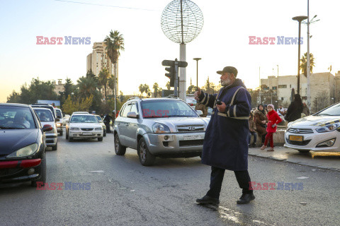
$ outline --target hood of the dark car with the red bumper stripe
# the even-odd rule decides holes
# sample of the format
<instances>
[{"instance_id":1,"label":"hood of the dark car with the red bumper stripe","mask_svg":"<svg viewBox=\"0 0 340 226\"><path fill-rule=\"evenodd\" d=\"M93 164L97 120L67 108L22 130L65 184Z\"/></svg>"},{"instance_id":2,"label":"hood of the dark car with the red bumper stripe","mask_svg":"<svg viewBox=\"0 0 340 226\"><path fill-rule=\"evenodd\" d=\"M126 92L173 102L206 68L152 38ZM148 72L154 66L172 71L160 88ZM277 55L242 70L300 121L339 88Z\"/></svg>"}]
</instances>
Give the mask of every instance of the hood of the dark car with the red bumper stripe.
<instances>
[{"instance_id":1,"label":"hood of the dark car with the red bumper stripe","mask_svg":"<svg viewBox=\"0 0 340 226\"><path fill-rule=\"evenodd\" d=\"M0 130L0 155L26 147L37 141L39 129L4 129Z\"/></svg>"}]
</instances>

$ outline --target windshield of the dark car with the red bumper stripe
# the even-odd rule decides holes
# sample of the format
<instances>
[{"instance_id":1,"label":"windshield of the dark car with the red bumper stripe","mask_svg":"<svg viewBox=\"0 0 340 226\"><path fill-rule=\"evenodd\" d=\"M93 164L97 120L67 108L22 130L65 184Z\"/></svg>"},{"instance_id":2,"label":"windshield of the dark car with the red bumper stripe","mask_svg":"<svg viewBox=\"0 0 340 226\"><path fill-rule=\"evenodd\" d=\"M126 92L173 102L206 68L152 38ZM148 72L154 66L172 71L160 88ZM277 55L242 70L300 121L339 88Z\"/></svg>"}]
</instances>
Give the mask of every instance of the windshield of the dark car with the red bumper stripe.
<instances>
[{"instance_id":1,"label":"windshield of the dark car with the red bumper stripe","mask_svg":"<svg viewBox=\"0 0 340 226\"><path fill-rule=\"evenodd\" d=\"M28 107L0 106L0 129L36 129Z\"/></svg>"}]
</instances>

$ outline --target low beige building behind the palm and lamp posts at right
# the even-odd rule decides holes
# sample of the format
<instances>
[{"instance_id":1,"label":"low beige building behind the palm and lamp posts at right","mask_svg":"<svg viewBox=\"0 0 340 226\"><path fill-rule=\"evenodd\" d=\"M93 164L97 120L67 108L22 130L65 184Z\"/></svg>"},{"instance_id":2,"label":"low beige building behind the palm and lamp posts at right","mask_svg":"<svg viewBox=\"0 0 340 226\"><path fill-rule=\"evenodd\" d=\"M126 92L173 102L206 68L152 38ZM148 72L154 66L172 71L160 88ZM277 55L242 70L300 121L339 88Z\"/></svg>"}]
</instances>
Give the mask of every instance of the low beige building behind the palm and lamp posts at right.
<instances>
[{"instance_id":1,"label":"low beige building behind the palm and lamp posts at right","mask_svg":"<svg viewBox=\"0 0 340 226\"><path fill-rule=\"evenodd\" d=\"M280 102L290 103L292 88L297 93L297 76L268 76L261 79L261 93L271 92ZM300 95L307 100L307 78L300 75ZM334 75L330 72L310 74L311 108L314 110L327 107L340 101L340 71Z\"/></svg>"}]
</instances>

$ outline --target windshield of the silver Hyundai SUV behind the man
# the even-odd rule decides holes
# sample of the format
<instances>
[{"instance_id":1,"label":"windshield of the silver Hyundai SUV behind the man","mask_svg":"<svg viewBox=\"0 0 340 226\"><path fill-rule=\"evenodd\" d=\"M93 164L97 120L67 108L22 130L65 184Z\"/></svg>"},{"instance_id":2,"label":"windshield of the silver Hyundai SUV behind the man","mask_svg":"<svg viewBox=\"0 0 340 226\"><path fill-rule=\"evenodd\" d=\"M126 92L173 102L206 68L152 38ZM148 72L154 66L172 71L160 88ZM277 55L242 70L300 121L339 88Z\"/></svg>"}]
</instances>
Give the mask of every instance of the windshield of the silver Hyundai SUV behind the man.
<instances>
[{"instance_id":1,"label":"windshield of the silver Hyundai SUV behind the man","mask_svg":"<svg viewBox=\"0 0 340 226\"><path fill-rule=\"evenodd\" d=\"M143 118L198 117L185 102L179 100L152 100L141 103Z\"/></svg>"}]
</instances>

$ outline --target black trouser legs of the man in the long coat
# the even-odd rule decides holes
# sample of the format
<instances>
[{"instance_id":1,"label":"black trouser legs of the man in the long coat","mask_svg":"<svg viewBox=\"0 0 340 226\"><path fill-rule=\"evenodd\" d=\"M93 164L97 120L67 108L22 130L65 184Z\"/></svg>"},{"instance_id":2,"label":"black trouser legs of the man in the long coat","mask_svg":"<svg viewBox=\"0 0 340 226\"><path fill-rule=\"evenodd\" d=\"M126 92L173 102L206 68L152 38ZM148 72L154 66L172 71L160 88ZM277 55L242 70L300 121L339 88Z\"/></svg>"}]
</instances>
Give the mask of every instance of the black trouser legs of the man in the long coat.
<instances>
[{"instance_id":1,"label":"black trouser legs of the man in the long coat","mask_svg":"<svg viewBox=\"0 0 340 226\"><path fill-rule=\"evenodd\" d=\"M248 170L234 171L239 187L242 189L242 194L252 194L253 191L249 189L250 177ZM225 176L225 169L211 167L210 175L210 189L207 196L212 198L220 198L220 191L222 187L223 177Z\"/></svg>"}]
</instances>

